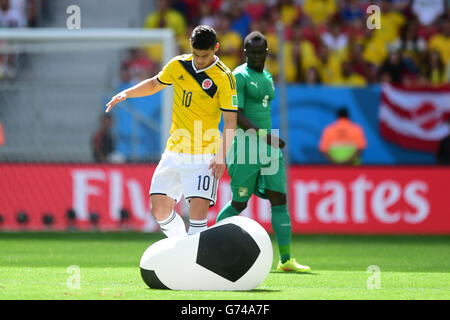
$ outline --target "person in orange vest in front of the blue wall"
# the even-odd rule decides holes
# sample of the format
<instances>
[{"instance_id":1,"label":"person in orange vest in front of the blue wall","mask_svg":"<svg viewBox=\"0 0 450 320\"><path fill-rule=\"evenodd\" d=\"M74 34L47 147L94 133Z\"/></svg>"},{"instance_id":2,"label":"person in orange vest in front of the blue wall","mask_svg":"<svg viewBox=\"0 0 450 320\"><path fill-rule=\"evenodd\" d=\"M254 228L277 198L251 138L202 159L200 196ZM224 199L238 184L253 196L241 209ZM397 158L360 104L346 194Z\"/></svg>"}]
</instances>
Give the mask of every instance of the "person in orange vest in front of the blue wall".
<instances>
[{"instance_id":1,"label":"person in orange vest in front of the blue wall","mask_svg":"<svg viewBox=\"0 0 450 320\"><path fill-rule=\"evenodd\" d=\"M364 131L349 119L347 109L339 109L337 117L323 130L319 150L330 163L359 165L367 146Z\"/></svg>"}]
</instances>

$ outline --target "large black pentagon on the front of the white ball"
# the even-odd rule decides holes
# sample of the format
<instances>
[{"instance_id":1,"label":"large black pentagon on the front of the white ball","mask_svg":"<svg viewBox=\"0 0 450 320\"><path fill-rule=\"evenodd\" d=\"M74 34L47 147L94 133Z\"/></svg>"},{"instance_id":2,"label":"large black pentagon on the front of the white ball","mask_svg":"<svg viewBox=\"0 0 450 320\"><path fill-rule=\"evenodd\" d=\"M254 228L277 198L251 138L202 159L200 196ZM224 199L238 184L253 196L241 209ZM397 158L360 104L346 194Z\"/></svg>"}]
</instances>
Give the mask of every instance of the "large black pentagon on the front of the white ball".
<instances>
[{"instance_id":1,"label":"large black pentagon on the front of the white ball","mask_svg":"<svg viewBox=\"0 0 450 320\"><path fill-rule=\"evenodd\" d=\"M236 282L253 266L261 249L241 227L228 223L200 233L197 264Z\"/></svg>"}]
</instances>

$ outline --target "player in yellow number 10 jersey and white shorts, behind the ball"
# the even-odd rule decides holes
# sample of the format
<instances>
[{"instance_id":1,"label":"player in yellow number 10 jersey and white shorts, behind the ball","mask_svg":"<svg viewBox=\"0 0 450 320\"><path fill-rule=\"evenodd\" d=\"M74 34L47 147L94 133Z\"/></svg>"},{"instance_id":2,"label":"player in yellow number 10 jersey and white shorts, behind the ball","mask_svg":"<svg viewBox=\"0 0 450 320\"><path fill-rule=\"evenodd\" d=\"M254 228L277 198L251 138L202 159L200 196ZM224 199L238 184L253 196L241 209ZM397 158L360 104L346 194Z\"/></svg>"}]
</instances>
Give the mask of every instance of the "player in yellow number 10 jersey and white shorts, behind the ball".
<instances>
[{"instance_id":1,"label":"player in yellow number 10 jersey and white shorts, behind the ball","mask_svg":"<svg viewBox=\"0 0 450 320\"><path fill-rule=\"evenodd\" d=\"M190 42L192 54L173 58L158 75L118 93L106 105L109 112L127 98L174 86L170 137L150 187L152 215L168 237L186 235L183 219L174 211L182 195L190 202L188 234L206 229L208 208L216 202L218 180L236 130L236 80L215 55L216 32L198 26Z\"/></svg>"}]
</instances>

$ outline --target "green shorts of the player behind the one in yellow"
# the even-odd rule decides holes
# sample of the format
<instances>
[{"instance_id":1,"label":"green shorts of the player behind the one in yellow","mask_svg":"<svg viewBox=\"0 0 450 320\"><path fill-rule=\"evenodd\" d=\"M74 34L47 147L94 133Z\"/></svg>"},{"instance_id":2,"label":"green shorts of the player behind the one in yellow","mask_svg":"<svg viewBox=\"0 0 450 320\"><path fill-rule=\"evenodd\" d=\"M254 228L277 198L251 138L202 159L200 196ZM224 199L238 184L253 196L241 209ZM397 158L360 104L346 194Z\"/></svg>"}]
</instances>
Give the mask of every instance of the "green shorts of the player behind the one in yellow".
<instances>
[{"instance_id":1,"label":"green shorts of the player behind the one in yellow","mask_svg":"<svg viewBox=\"0 0 450 320\"><path fill-rule=\"evenodd\" d=\"M267 199L265 190L286 194L286 168L283 154L268 164L228 164L233 201L247 202L252 194Z\"/></svg>"}]
</instances>

